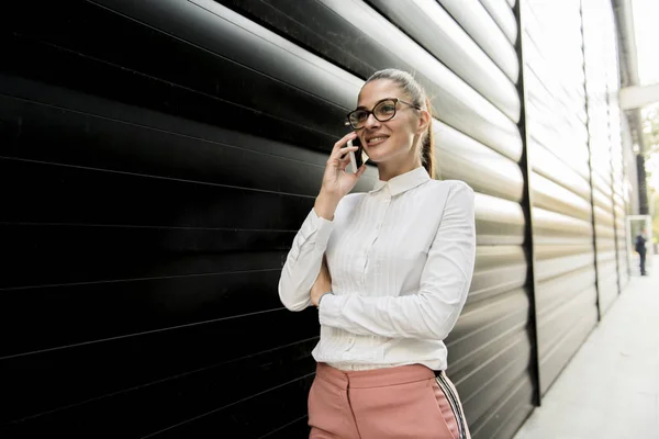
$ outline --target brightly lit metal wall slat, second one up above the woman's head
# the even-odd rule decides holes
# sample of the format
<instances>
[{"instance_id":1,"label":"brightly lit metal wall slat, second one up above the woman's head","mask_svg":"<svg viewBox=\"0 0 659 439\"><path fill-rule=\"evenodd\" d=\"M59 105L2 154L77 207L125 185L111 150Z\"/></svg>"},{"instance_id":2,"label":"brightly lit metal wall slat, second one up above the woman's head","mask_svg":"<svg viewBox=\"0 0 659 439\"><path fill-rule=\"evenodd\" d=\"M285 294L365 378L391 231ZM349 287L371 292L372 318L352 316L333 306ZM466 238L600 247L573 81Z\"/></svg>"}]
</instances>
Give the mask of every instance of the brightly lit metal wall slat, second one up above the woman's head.
<instances>
[{"instance_id":1,"label":"brightly lit metal wall slat, second one up above the woman's head","mask_svg":"<svg viewBox=\"0 0 659 439\"><path fill-rule=\"evenodd\" d=\"M426 0L370 0L369 3L509 117L520 121L520 97L514 83L438 3Z\"/></svg>"}]
</instances>

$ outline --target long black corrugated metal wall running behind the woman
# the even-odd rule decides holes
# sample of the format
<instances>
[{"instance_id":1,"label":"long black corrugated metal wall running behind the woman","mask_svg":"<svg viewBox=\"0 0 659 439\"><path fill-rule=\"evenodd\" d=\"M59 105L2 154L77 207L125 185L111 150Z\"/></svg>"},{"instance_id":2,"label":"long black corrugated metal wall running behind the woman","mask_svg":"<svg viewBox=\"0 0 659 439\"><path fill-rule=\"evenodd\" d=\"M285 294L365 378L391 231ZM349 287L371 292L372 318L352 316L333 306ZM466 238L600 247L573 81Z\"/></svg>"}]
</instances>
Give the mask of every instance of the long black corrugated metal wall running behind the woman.
<instances>
[{"instance_id":1,"label":"long black corrugated metal wall running behind the woman","mask_svg":"<svg viewBox=\"0 0 659 439\"><path fill-rule=\"evenodd\" d=\"M570 74L557 80L546 64L554 58L541 60L536 5L527 5L544 393L596 322L587 121L602 113L600 123L619 132L619 114L601 106L594 115L589 98L585 117L579 8L566 7L579 44L566 43ZM474 439L512 437L538 389L513 7L78 0L40 3L37 14L35 4L8 8L0 18L0 235L9 256L0 320L15 336L0 351L3 428L15 437L304 437L317 316L282 308L279 270L364 79L400 67L433 98L438 177L477 191L477 267L447 340L448 372ZM596 156L608 167L593 178L595 226L608 227L597 262L614 266L611 230L624 223L613 222L612 200L623 210L625 202L616 142L610 134L610 153ZM376 178L370 168L356 190ZM617 277L601 281L611 282Z\"/></svg>"}]
</instances>

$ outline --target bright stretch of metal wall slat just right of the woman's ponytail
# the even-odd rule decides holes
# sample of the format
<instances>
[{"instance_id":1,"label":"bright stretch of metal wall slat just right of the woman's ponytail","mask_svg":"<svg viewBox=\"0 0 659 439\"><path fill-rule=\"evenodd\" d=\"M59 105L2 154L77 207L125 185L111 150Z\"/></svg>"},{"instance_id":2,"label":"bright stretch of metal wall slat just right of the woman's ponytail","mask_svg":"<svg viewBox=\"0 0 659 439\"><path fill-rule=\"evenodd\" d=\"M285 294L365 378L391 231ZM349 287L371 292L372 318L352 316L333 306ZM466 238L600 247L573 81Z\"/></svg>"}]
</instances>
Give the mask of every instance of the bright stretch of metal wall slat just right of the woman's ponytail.
<instances>
[{"instance_id":1,"label":"bright stretch of metal wall slat just right of the woman's ponytail","mask_svg":"<svg viewBox=\"0 0 659 439\"><path fill-rule=\"evenodd\" d=\"M520 202L524 181L517 164L438 121L433 124L438 173L467 181L476 191Z\"/></svg>"}]
</instances>

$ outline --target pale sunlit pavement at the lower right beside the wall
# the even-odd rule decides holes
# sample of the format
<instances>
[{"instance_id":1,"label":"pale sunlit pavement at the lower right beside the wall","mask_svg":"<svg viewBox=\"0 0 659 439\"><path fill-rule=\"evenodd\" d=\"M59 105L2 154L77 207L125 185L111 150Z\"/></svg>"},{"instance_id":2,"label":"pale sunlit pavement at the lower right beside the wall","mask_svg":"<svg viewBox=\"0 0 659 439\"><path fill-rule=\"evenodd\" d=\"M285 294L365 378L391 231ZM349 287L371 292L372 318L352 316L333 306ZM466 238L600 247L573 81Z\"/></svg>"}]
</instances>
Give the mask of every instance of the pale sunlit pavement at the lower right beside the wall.
<instances>
[{"instance_id":1,"label":"pale sunlit pavement at the lower right beside the wall","mask_svg":"<svg viewBox=\"0 0 659 439\"><path fill-rule=\"evenodd\" d=\"M659 439L659 256L637 271L514 439Z\"/></svg>"}]
</instances>

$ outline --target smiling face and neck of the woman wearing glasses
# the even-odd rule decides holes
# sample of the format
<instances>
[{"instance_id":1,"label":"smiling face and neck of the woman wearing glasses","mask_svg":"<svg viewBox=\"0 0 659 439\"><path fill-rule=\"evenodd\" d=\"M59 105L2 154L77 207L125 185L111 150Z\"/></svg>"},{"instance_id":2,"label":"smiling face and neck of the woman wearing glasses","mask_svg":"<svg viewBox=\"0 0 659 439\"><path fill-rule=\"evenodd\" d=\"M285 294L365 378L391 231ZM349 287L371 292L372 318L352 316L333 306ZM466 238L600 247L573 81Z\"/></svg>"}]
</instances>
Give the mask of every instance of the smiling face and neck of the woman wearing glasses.
<instances>
[{"instance_id":1,"label":"smiling face and neck of the woman wearing glasses","mask_svg":"<svg viewBox=\"0 0 659 439\"><path fill-rule=\"evenodd\" d=\"M378 79L368 82L359 92L358 108L371 110L379 101L399 98L412 102L394 81ZM380 122L372 114L366 125L356 130L369 159L378 164L381 180L407 172L421 166L421 135L427 128L429 114L399 102L393 119Z\"/></svg>"}]
</instances>

